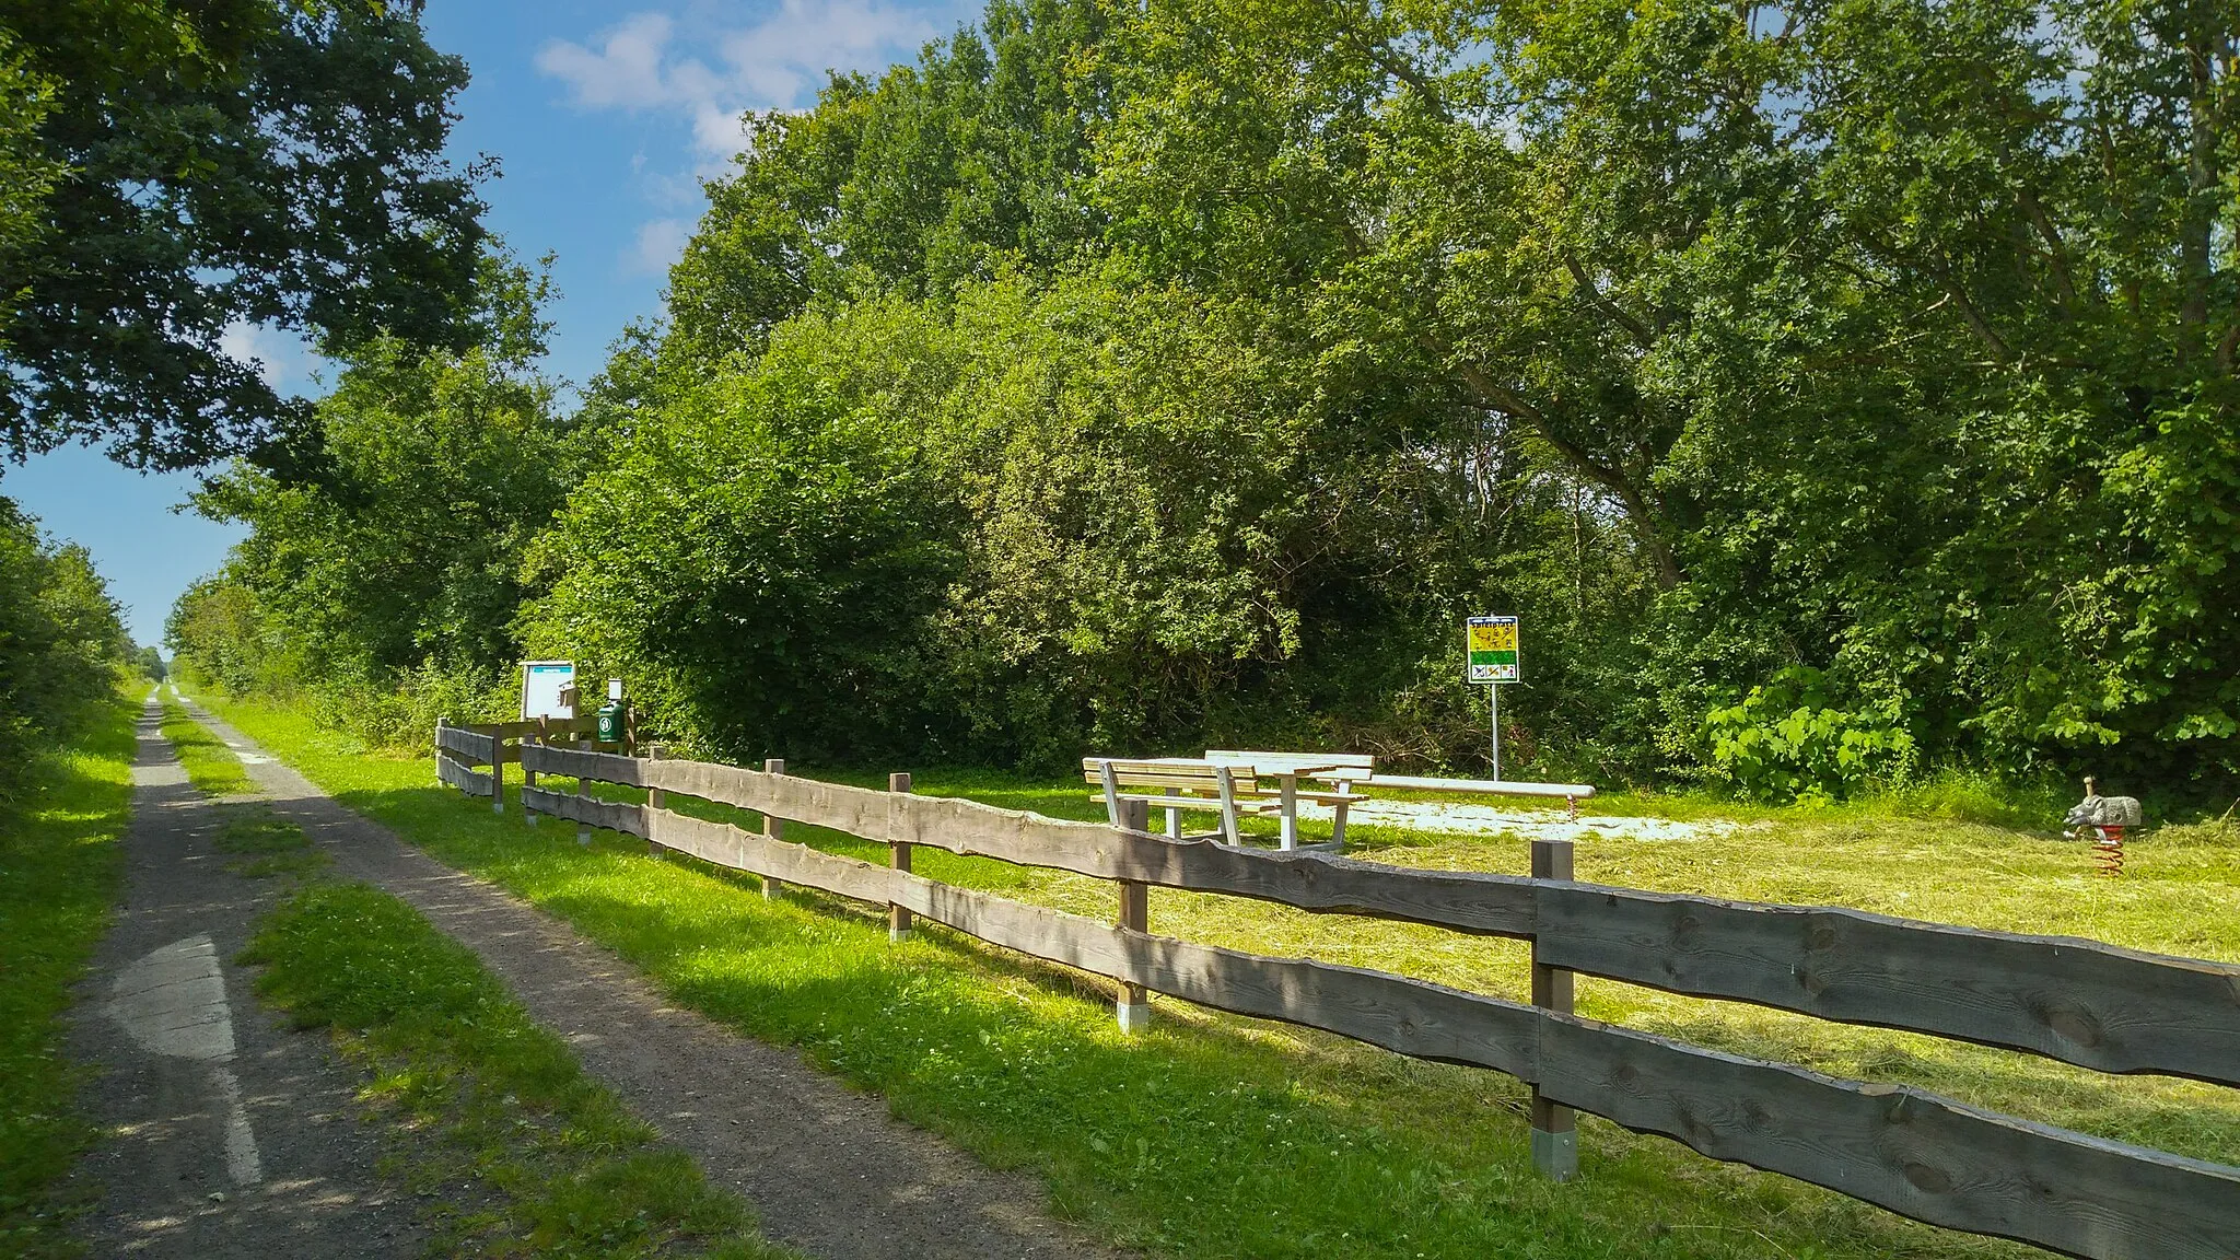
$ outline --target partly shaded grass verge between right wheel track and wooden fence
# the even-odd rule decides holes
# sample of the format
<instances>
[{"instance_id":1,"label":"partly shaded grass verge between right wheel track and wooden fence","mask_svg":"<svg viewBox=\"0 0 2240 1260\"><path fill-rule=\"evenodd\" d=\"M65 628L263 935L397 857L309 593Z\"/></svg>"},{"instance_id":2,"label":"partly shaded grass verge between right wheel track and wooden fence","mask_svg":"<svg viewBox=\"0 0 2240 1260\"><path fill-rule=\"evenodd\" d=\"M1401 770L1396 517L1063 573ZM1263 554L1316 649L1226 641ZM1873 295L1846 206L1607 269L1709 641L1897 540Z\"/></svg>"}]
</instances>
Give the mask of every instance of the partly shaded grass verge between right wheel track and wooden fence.
<instances>
[{"instance_id":1,"label":"partly shaded grass verge between right wheel track and wooden fence","mask_svg":"<svg viewBox=\"0 0 2240 1260\"><path fill-rule=\"evenodd\" d=\"M643 841L526 827L508 800L343 789L437 856L495 879L674 1000L802 1047L898 1114L1030 1168L1100 1235L1187 1256L1801 1258L2025 1256L1590 1123L1586 1177L1530 1175L1523 1087L1340 1038L1160 1002L1111 1025L1109 986L939 926L892 946L874 908L650 859ZM697 809L694 809L697 812ZM726 818L739 821L739 818ZM885 859L885 845L793 830ZM988 859L923 852L990 870ZM948 874L941 874L948 879ZM965 879L959 879L961 883ZM972 879L974 886L988 886Z\"/></svg>"}]
</instances>

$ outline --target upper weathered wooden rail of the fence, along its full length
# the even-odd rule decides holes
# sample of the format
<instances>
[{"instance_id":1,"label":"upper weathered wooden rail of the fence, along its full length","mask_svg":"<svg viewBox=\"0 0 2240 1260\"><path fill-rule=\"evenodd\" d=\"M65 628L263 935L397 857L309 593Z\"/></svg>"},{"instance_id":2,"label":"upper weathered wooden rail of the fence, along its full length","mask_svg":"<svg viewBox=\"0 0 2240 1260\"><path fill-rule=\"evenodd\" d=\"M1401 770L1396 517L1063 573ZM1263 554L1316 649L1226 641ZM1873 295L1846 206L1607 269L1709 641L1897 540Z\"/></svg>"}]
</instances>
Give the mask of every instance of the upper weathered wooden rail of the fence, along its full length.
<instances>
[{"instance_id":1,"label":"upper weathered wooden rail of the fence, along its full length","mask_svg":"<svg viewBox=\"0 0 2240 1260\"><path fill-rule=\"evenodd\" d=\"M1315 912L1537 935L1546 966L1671 993L1949 1036L2115 1074L2159 1072L2240 1085L2240 1054L2231 1049L2240 1045L2236 964L1864 910L1172 841L972 800L894 796L706 762L650 762L654 769L647 769L629 758L562 749L524 758L538 758L538 769L663 787L871 841L1257 897Z\"/></svg>"}]
</instances>

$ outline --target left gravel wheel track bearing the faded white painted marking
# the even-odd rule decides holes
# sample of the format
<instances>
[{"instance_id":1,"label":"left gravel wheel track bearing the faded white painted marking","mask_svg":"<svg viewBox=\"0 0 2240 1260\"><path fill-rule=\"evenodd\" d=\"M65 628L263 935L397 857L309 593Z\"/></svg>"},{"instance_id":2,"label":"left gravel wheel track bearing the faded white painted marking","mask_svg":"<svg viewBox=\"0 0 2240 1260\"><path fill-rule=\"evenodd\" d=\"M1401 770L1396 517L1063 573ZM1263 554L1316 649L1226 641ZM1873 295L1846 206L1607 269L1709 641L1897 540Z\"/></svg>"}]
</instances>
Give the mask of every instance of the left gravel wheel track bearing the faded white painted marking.
<instances>
[{"instance_id":1,"label":"left gravel wheel track bearing the faded white painted marking","mask_svg":"<svg viewBox=\"0 0 2240 1260\"><path fill-rule=\"evenodd\" d=\"M356 1119L356 1069L262 1011L231 964L282 888L224 870L220 807L159 722L150 702L123 906L72 1007L103 1132L72 1170L67 1193L96 1197L76 1235L94 1256L419 1256L410 1208L374 1173L381 1134Z\"/></svg>"}]
</instances>

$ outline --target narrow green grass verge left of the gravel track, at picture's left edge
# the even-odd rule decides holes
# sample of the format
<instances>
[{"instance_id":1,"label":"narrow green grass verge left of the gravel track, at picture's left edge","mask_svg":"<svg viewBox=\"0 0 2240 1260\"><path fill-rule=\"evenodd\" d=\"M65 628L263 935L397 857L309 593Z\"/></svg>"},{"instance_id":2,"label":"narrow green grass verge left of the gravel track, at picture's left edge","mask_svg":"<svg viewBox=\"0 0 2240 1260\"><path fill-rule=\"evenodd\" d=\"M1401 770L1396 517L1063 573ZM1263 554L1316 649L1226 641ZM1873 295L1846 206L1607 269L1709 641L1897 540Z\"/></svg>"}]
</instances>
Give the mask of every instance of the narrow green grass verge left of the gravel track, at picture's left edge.
<instances>
[{"instance_id":1,"label":"narrow green grass verge left of the gravel track, at picture's left edge","mask_svg":"<svg viewBox=\"0 0 2240 1260\"><path fill-rule=\"evenodd\" d=\"M134 688L137 693L139 688ZM137 700L137 695L134 695ZM76 1256L60 1177L92 1139L63 1058L60 1016L110 924L132 812L123 697L74 747L22 767L27 805L0 814L0 1253Z\"/></svg>"}]
</instances>

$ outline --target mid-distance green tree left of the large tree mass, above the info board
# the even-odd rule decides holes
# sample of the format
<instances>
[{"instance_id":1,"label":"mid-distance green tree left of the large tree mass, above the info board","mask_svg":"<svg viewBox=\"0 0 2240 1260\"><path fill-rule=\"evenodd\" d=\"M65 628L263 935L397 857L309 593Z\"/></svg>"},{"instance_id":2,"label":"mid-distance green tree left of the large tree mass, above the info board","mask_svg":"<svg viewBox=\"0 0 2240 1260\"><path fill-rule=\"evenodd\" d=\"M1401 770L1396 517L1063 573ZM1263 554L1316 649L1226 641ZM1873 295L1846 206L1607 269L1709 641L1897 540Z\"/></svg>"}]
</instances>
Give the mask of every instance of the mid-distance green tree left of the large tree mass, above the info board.
<instances>
[{"instance_id":1,"label":"mid-distance green tree left of the large tree mass, above the info board","mask_svg":"<svg viewBox=\"0 0 2240 1260\"><path fill-rule=\"evenodd\" d=\"M298 661L372 684L511 664L522 552L596 455L535 370L544 298L542 274L488 260L488 345L356 350L318 404L318 478L237 462L195 495L251 527L226 572Z\"/></svg>"}]
</instances>

